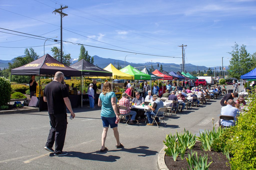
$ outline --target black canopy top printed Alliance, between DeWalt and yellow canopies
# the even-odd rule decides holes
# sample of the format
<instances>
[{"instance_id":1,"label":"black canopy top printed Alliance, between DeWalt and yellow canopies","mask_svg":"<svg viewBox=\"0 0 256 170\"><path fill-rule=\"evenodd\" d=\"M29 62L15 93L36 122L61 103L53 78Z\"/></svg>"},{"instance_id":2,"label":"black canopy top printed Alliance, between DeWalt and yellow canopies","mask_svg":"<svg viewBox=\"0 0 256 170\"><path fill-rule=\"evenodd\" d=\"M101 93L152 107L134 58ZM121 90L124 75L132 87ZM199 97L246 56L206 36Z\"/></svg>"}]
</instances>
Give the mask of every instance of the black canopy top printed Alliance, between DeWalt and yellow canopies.
<instances>
[{"instance_id":1,"label":"black canopy top printed Alliance, between DeWalt and yellow canopies","mask_svg":"<svg viewBox=\"0 0 256 170\"><path fill-rule=\"evenodd\" d=\"M84 59L70 65L69 67L81 71L81 74L83 76L112 76L112 72L94 66L93 64Z\"/></svg>"}]
</instances>

